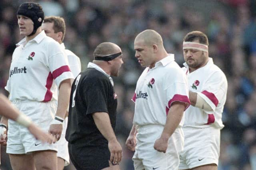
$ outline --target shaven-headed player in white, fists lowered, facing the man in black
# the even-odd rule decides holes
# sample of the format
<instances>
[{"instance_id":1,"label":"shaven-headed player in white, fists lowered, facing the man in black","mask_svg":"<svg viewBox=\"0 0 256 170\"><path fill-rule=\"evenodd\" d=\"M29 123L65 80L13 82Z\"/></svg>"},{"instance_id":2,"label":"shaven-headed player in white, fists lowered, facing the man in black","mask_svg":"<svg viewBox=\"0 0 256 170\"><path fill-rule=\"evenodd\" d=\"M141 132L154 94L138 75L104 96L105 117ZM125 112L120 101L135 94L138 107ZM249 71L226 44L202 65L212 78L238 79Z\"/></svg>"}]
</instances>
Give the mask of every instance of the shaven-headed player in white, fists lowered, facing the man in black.
<instances>
[{"instance_id":1,"label":"shaven-headed player in white, fists lowered, facing the man in black","mask_svg":"<svg viewBox=\"0 0 256 170\"><path fill-rule=\"evenodd\" d=\"M168 54L162 37L148 29L134 41L135 57L146 67L133 97L133 127L126 141L135 150L135 170L177 170L183 149L183 113L190 105L186 75Z\"/></svg>"}]
</instances>

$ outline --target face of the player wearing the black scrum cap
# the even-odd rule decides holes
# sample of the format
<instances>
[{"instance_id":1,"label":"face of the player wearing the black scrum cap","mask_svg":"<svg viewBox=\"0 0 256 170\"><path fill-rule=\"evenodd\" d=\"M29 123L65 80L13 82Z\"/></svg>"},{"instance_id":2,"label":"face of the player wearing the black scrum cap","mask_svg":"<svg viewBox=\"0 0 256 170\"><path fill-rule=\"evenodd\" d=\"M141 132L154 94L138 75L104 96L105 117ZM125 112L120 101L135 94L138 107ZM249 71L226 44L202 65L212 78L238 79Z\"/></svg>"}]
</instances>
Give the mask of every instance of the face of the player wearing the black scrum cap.
<instances>
[{"instance_id":1,"label":"face of the player wearing the black scrum cap","mask_svg":"<svg viewBox=\"0 0 256 170\"><path fill-rule=\"evenodd\" d=\"M17 15L18 25L20 29L20 35L28 36L33 32L34 23L33 21L22 15Z\"/></svg>"}]
</instances>

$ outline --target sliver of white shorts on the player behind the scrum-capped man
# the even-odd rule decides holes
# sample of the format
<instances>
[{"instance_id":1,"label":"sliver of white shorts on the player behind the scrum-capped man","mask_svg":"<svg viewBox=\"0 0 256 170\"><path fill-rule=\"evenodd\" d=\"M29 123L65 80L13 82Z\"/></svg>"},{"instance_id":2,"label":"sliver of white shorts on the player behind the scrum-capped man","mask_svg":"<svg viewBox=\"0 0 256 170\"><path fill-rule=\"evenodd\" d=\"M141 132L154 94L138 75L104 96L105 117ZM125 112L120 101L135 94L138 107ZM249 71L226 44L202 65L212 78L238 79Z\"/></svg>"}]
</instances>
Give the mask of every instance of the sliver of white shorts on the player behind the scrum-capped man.
<instances>
[{"instance_id":1,"label":"sliver of white shorts on the player behind the scrum-capped man","mask_svg":"<svg viewBox=\"0 0 256 170\"><path fill-rule=\"evenodd\" d=\"M63 130L60 136L60 140L56 142L56 145L58 146L58 152L57 157L60 157L65 160L65 165L68 166L69 164L69 154L68 154L68 141L65 139L65 134L68 126L68 117L66 117L63 121Z\"/></svg>"}]
</instances>

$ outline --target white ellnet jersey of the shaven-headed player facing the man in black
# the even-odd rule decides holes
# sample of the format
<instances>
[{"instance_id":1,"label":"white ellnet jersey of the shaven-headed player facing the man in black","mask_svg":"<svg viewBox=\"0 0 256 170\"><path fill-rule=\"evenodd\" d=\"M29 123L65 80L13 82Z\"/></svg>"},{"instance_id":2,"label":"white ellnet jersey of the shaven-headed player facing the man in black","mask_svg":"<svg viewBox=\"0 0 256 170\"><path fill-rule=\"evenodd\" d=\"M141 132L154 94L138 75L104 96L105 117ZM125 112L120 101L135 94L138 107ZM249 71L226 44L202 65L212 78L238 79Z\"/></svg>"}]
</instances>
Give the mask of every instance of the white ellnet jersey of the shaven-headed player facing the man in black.
<instances>
[{"instance_id":1,"label":"white ellnet jersey of the shaven-headed player facing the man in black","mask_svg":"<svg viewBox=\"0 0 256 170\"><path fill-rule=\"evenodd\" d=\"M158 61L154 68L147 67L142 72L132 100L135 102L135 125L165 125L172 102L190 105L187 78L174 61L173 54ZM183 121L184 118L180 125Z\"/></svg>"}]
</instances>

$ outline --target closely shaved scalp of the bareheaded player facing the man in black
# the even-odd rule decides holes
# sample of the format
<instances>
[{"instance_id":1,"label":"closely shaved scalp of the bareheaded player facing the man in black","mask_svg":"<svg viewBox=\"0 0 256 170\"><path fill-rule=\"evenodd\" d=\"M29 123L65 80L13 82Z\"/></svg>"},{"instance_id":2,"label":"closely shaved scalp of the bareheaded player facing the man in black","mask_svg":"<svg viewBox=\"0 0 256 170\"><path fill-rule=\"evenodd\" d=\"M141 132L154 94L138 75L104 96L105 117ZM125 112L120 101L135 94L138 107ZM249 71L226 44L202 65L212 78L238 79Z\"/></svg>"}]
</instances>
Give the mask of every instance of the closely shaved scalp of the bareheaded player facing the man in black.
<instances>
[{"instance_id":1,"label":"closely shaved scalp of the bareheaded player facing the man in black","mask_svg":"<svg viewBox=\"0 0 256 170\"><path fill-rule=\"evenodd\" d=\"M139 33L135 38L135 41L144 41L146 45L163 45L161 35L152 29L146 29L145 31Z\"/></svg>"}]
</instances>

